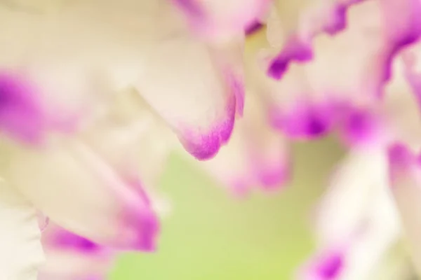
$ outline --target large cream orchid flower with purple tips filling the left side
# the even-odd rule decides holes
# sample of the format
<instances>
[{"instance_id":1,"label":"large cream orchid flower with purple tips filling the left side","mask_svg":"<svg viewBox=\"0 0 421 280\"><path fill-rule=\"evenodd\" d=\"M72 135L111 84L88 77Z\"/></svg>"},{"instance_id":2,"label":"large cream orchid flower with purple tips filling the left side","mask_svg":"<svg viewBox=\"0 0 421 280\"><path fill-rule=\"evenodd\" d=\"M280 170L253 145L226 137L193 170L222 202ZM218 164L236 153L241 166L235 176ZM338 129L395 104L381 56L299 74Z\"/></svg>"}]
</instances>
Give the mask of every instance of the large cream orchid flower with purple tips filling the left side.
<instances>
[{"instance_id":1,"label":"large cream orchid flower with purple tips filling the left side","mask_svg":"<svg viewBox=\"0 0 421 280\"><path fill-rule=\"evenodd\" d=\"M36 278L36 209L102 246L154 250L159 222L144 187L173 134L199 160L228 141L244 99L233 46L265 7L232 1L220 17L222 1L209 2L208 21L192 25L181 2L0 5L0 278ZM198 36L231 17L229 36Z\"/></svg>"}]
</instances>

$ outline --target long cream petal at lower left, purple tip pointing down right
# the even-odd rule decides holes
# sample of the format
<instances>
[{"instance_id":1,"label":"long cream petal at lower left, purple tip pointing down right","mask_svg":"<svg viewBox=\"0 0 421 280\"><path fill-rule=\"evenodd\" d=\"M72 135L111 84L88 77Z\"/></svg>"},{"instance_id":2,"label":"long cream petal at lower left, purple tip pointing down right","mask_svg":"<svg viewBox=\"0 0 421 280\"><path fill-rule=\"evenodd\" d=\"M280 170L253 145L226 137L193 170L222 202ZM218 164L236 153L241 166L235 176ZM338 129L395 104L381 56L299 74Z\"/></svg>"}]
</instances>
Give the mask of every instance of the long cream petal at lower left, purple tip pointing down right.
<instances>
[{"instance_id":1,"label":"long cream petal at lower left, purple tip pointing down right","mask_svg":"<svg viewBox=\"0 0 421 280\"><path fill-rule=\"evenodd\" d=\"M120 176L82 141L9 152L5 179L52 221L100 244L154 249L159 222L140 184Z\"/></svg>"}]
</instances>

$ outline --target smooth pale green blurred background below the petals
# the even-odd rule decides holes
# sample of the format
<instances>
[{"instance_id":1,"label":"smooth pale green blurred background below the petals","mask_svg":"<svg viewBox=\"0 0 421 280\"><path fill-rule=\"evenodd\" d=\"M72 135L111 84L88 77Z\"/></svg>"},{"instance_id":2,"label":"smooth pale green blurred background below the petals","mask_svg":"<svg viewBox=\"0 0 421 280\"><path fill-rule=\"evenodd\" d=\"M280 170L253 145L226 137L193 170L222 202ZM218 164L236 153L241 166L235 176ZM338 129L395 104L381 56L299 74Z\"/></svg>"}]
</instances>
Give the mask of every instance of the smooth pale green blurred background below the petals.
<instances>
[{"instance_id":1,"label":"smooth pale green blurred background below the petals","mask_svg":"<svg viewBox=\"0 0 421 280\"><path fill-rule=\"evenodd\" d=\"M312 251L312 207L342 154L332 139L293 150L289 186L242 199L174 156L161 181L173 212L159 251L123 255L110 279L292 279Z\"/></svg>"}]
</instances>

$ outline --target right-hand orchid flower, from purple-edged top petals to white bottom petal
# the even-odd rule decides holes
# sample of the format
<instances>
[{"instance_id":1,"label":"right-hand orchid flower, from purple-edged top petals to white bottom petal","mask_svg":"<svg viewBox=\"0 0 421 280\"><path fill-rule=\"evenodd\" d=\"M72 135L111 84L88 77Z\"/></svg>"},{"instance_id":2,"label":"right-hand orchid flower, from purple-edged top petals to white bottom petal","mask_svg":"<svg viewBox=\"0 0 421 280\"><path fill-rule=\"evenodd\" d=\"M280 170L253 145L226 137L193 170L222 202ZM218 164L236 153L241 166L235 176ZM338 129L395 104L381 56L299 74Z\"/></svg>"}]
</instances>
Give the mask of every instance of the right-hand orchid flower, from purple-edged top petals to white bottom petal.
<instances>
[{"instance_id":1,"label":"right-hand orchid flower, from purple-edged top petals to white bottom petal","mask_svg":"<svg viewBox=\"0 0 421 280\"><path fill-rule=\"evenodd\" d=\"M272 49L262 53L278 82L263 77L260 85L269 89L262 92L272 125L299 139L335 129L352 148L319 210L321 252L298 279L404 279L406 261L396 274L375 276L401 239L420 272L413 151L421 143L421 2L279 5L267 19Z\"/></svg>"}]
</instances>

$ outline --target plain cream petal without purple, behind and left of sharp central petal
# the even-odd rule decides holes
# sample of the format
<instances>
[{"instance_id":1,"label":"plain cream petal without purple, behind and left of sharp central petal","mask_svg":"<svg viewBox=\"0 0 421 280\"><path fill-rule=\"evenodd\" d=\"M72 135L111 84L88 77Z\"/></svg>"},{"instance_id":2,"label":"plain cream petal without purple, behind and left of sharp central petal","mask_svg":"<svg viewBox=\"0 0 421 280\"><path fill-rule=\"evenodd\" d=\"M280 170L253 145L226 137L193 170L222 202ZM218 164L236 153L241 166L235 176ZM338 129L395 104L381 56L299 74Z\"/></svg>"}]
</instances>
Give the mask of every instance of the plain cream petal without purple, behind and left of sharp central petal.
<instances>
[{"instance_id":1,"label":"plain cream petal without purple, behind and left of sharp central petal","mask_svg":"<svg viewBox=\"0 0 421 280\"><path fill-rule=\"evenodd\" d=\"M133 89L115 94L104 116L86 127L82 137L123 176L139 176L147 188L158 183L177 141Z\"/></svg>"}]
</instances>

